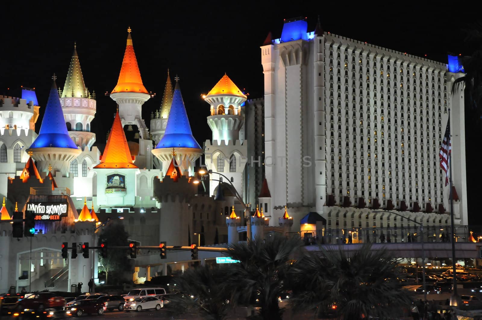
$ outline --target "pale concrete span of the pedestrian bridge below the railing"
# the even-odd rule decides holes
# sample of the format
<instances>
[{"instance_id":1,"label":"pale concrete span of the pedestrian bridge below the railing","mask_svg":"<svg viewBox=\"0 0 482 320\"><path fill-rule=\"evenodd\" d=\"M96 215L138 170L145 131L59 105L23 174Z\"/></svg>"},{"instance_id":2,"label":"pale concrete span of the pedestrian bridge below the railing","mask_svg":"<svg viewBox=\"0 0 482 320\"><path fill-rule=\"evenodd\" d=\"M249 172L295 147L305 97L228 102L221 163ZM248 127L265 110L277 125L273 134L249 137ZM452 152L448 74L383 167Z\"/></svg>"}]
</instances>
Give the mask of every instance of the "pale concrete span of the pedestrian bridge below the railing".
<instances>
[{"instance_id":1,"label":"pale concrete span of the pedestrian bridge below the railing","mask_svg":"<svg viewBox=\"0 0 482 320\"><path fill-rule=\"evenodd\" d=\"M348 254L360 250L362 243L351 244L312 244L304 248L308 251L325 250L342 250ZM425 249L425 257L431 258L452 258L452 243L450 242L429 242L423 244ZM480 258L479 248L482 242L455 242L455 256L457 258ZM372 250L386 249L393 257L396 258L422 258L422 243L407 242L407 243L372 243Z\"/></svg>"}]
</instances>

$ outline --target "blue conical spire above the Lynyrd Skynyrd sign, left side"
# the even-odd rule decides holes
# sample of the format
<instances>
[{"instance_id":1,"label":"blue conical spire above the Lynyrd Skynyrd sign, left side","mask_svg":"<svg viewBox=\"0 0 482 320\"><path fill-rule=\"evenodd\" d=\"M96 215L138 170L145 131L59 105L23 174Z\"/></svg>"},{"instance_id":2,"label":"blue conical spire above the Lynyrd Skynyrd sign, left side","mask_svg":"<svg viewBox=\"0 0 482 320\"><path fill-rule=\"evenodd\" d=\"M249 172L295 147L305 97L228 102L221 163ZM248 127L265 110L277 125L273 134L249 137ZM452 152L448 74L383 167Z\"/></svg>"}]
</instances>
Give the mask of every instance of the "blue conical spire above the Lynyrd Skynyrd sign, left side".
<instances>
[{"instance_id":1,"label":"blue conical spire above the Lynyrd Skynyrd sign, left side","mask_svg":"<svg viewBox=\"0 0 482 320\"><path fill-rule=\"evenodd\" d=\"M55 147L77 149L77 146L68 135L57 85L55 84L55 75L53 78L54 81L50 89L47 107L45 107L40 133L30 148Z\"/></svg>"}]
</instances>

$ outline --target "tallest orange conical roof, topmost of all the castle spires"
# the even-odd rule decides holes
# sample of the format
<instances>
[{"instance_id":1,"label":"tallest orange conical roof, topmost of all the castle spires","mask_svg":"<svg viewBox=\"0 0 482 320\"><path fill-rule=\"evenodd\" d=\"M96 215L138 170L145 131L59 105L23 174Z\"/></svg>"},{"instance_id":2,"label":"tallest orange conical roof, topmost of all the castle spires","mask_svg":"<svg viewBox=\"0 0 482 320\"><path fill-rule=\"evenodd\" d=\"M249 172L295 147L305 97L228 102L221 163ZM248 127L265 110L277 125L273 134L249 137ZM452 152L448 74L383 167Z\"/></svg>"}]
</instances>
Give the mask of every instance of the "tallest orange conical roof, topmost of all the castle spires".
<instances>
[{"instance_id":1,"label":"tallest orange conical roof, topmost of all the castle spires","mask_svg":"<svg viewBox=\"0 0 482 320\"><path fill-rule=\"evenodd\" d=\"M129 34L127 35L127 46L125 48L124 59L122 60L122 67L120 68L119 80L111 93L137 92L148 94L142 84L141 73L137 66L137 59L135 58L134 47L132 45L131 27L127 29L127 32Z\"/></svg>"}]
</instances>

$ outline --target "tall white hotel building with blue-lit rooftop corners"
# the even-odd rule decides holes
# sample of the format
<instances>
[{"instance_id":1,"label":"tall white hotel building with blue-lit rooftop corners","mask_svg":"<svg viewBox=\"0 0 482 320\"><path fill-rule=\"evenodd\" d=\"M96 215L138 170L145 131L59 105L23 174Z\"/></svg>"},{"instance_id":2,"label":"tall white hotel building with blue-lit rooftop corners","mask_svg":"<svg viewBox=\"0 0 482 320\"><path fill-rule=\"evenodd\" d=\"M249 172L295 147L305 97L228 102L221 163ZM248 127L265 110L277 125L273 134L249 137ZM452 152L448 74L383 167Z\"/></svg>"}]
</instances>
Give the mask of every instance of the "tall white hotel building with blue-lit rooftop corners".
<instances>
[{"instance_id":1,"label":"tall white hotel building with blue-lit rooftop corners","mask_svg":"<svg viewBox=\"0 0 482 320\"><path fill-rule=\"evenodd\" d=\"M455 223L467 225L464 96L451 94L463 75L456 57L449 66L307 27L285 21L281 38L261 46L271 221L287 204L295 218L316 211L327 228L407 225L372 213L379 206L450 225L439 164L450 108Z\"/></svg>"}]
</instances>

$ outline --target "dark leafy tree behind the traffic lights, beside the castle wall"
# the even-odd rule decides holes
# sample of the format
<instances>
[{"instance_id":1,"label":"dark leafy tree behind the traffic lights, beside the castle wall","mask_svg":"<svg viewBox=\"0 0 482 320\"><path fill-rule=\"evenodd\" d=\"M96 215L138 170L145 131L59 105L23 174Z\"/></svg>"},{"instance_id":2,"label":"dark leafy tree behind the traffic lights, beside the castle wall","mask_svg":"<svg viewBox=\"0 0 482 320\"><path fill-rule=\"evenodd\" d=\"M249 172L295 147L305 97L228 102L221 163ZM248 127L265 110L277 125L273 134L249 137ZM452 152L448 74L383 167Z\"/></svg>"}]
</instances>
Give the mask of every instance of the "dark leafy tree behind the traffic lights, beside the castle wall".
<instances>
[{"instance_id":1,"label":"dark leafy tree behind the traffic lights, beside the castle wall","mask_svg":"<svg viewBox=\"0 0 482 320\"><path fill-rule=\"evenodd\" d=\"M99 254L99 263L106 271L106 283L109 273L123 273L130 270L126 249L113 249L111 246L128 246L129 234L119 222L110 222L103 228L99 236L99 246L102 242L107 243L107 257L102 258Z\"/></svg>"}]
</instances>

